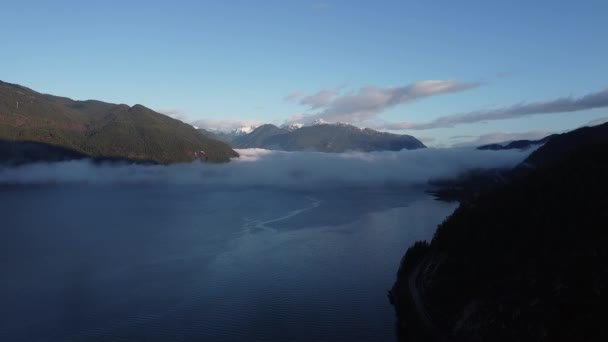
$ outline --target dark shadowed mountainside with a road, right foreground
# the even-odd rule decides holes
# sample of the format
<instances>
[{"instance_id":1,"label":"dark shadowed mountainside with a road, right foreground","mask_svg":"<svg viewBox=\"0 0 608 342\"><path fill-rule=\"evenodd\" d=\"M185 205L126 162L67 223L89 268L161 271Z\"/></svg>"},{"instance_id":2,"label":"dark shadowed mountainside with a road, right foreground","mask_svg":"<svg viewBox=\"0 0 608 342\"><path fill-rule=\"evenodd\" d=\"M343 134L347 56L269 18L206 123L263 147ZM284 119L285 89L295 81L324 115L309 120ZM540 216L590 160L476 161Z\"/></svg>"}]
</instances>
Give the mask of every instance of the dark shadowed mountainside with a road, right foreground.
<instances>
[{"instance_id":1,"label":"dark shadowed mountainside with a road, right foreground","mask_svg":"<svg viewBox=\"0 0 608 342\"><path fill-rule=\"evenodd\" d=\"M403 339L605 341L607 150L608 124L556 136L412 246L390 291Z\"/></svg>"}]
</instances>

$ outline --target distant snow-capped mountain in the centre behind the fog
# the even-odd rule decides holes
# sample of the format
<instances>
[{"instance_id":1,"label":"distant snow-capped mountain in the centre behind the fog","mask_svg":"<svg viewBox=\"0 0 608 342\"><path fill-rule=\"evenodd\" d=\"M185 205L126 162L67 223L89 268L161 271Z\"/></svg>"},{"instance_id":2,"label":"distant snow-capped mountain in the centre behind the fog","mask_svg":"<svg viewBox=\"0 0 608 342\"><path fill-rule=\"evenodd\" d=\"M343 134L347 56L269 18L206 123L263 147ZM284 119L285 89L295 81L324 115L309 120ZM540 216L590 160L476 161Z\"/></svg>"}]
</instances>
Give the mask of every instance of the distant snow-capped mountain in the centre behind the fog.
<instances>
[{"instance_id":1,"label":"distant snow-capped mountain in the centre behind the fog","mask_svg":"<svg viewBox=\"0 0 608 342\"><path fill-rule=\"evenodd\" d=\"M253 132L233 140L239 148L265 148L284 151L399 151L424 148L424 144L409 135L378 132L348 124L316 124L279 128L262 125Z\"/></svg>"}]
</instances>

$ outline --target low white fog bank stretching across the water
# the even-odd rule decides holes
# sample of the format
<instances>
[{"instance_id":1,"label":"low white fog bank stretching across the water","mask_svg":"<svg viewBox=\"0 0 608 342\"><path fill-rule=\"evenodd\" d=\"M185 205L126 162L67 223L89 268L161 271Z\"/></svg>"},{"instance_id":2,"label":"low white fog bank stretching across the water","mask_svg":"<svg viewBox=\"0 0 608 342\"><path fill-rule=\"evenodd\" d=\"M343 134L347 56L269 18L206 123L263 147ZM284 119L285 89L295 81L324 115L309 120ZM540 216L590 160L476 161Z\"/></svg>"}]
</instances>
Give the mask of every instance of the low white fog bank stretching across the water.
<instances>
[{"instance_id":1,"label":"low white fog bank stretching across the water","mask_svg":"<svg viewBox=\"0 0 608 342\"><path fill-rule=\"evenodd\" d=\"M531 150L474 148L399 152L315 153L238 150L227 164L95 165L89 161L39 163L0 168L0 184L139 184L277 186L296 189L342 186L415 186L472 168L512 167Z\"/></svg>"}]
</instances>

